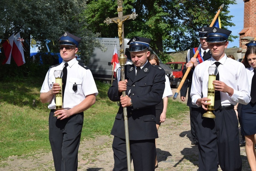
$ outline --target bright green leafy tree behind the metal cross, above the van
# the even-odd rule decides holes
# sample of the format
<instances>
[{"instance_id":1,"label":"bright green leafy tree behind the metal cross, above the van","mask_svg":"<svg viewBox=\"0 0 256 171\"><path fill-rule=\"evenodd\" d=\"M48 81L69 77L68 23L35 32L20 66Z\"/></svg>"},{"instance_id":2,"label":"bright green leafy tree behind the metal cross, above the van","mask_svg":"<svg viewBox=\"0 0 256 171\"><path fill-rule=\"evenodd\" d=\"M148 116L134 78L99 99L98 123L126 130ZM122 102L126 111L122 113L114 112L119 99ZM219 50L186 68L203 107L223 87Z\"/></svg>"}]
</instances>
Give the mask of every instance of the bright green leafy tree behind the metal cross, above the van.
<instances>
[{"instance_id":1,"label":"bright green leafy tree behind the metal cross, above the van","mask_svg":"<svg viewBox=\"0 0 256 171\"><path fill-rule=\"evenodd\" d=\"M118 15L116 2L88 0L84 12L87 28L101 33L102 37L117 37L116 25L103 23L106 17ZM197 47L197 29L211 24L222 3L222 0L124 0L124 15L132 12L138 14L135 20L125 22L125 38L137 35L152 39L151 47L162 57L170 49L184 51ZM236 4L236 1L225 1L223 11L219 15L222 28L234 26L230 22L233 16L228 15L229 4Z\"/></svg>"}]
</instances>

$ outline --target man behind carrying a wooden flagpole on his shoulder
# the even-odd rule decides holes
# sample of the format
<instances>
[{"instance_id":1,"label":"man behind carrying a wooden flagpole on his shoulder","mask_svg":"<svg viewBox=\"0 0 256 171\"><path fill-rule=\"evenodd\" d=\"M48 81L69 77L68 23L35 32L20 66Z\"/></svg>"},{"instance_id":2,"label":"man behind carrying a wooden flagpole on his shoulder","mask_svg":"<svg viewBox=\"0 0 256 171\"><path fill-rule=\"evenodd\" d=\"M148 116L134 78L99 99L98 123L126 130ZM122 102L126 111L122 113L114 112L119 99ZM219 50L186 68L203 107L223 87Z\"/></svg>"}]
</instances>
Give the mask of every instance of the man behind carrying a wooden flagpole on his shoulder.
<instances>
[{"instance_id":1,"label":"man behind carrying a wooden flagpole on his shoulder","mask_svg":"<svg viewBox=\"0 0 256 171\"><path fill-rule=\"evenodd\" d=\"M199 49L199 53L196 58L193 58L196 51L197 47L191 48L188 50L187 57L186 57L186 68L192 67L187 79L185 80L182 88L181 88L181 100L185 101L186 100L186 94L187 94L187 88L188 88L188 100L187 100L187 106L189 106L189 111L190 111L190 131L192 135L193 141L191 142L192 145L197 145L198 140L197 140L197 124L196 124L196 118L199 114L199 108L196 105L193 105L191 102L191 97L190 97L190 90L191 90L191 82L192 82L192 76L195 67L199 64L202 63L203 61L211 58L212 54L211 51L209 51L208 44L206 42L206 37L204 36L205 33L210 29L210 27L201 27L198 29L198 36L201 44L201 49ZM193 63L191 63L193 62ZM183 69L183 75L185 74L187 69Z\"/></svg>"}]
</instances>

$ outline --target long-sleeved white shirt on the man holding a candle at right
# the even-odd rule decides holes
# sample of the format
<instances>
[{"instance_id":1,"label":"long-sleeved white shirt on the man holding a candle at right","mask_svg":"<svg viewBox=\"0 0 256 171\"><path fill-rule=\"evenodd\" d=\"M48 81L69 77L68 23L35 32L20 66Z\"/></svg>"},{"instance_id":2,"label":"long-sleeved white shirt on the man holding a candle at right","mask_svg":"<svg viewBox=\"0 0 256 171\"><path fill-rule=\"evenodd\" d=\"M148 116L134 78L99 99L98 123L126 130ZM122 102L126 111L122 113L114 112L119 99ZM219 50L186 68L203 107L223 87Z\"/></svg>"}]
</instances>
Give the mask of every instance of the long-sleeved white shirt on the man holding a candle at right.
<instances>
[{"instance_id":1,"label":"long-sleeved white shirt on the man holding a candle at right","mask_svg":"<svg viewBox=\"0 0 256 171\"><path fill-rule=\"evenodd\" d=\"M194 105L197 105L197 100L202 98L201 92L203 97L207 97L209 80L208 68L210 66L215 67L215 62L216 60L211 57L210 59L197 65L194 70L190 92L190 97L192 98L192 103ZM244 65L241 62L227 58L226 54L218 62L221 63L218 66L219 81L224 82L227 86L234 89L234 93L231 97L228 95L228 93L220 91L221 104L248 104L251 97Z\"/></svg>"}]
</instances>

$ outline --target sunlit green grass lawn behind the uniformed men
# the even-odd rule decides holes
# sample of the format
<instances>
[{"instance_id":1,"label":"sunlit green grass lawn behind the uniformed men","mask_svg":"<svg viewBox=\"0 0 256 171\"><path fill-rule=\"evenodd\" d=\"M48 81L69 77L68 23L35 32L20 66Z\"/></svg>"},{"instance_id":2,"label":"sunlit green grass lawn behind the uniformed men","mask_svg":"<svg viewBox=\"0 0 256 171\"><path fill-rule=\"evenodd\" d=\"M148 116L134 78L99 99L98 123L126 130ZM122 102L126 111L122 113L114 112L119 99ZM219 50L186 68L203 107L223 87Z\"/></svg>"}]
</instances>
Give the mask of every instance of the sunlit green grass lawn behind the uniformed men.
<instances>
[{"instance_id":1,"label":"sunlit green grass lawn behind the uniformed men","mask_svg":"<svg viewBox=\"0 0 256 171\"><path fill-rule=\"evenodd\" d=\"M51 151L49 109L39 99L43 80L17 78L15 81L0 82L0 161L13 155ZM117 103L107 95L110 84L96 81L96 85L99 95L96 103L84 112L82 140L109 135L118 110ZM182 119L189 108L169 99L167 118Z\"/></svg>"}]
</instances>

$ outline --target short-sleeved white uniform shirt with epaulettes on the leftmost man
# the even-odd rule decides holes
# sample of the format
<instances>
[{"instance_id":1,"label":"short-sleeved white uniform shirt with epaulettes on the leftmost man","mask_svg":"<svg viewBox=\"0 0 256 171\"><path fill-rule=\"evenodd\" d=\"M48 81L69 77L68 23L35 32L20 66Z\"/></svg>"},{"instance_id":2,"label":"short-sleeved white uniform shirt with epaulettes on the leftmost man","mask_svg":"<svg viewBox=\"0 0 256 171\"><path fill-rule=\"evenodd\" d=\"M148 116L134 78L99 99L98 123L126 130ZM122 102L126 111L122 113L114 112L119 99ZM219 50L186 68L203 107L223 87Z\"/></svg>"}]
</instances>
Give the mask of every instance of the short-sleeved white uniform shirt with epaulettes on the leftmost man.
<instances>
[{"instance_id":1,"label":"short-sleeved white uniform shirt with epaulettes on the leftmost man","mask_svg":"<svg viewBox=\"0 0 256 171\"><path fill-rule=\"evenodd\" d=\"M52 89L53 83L55 83L55 70L62 70L65 62L63 61L60 65L49 69L47 72L44 83L40 92L48 92ZM89 69L85 69L78 64L76 58L68 62L67 67L67 83L65 88L65 96L63 99L63 108L71 109L77 104L81 103L87 95L96 94L98 95L98 90ZM77 90L73 90L73 85L77 85ZM49 109L55 109L55 96L48 104Z\"/></svg>"}]
</instances>

